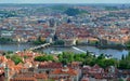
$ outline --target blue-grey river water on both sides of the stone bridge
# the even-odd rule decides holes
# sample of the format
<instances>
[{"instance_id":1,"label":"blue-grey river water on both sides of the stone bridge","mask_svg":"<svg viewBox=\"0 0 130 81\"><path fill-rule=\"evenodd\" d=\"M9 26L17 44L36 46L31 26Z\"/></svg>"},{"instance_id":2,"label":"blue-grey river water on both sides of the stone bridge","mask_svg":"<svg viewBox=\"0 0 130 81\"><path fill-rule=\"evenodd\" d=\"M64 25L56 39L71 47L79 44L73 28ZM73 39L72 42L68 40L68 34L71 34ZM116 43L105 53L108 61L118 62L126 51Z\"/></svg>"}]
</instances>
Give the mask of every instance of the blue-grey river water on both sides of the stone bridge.
<instances>
[{"instance_id":1,"label":"blue-grey river water on both sides of the stone bridge","mask_svg":"<svg viewBox=\"0 0 130 81\"><path fill-rule=\"evenodd\" d=\"M30 44L0 44L0 50L2 51L23 51L25 49L29 49L32 48L34 45ZM47 49L42 49L41 51L43 51L47 54L50 54L52 51L58 51L58 52L75 52L75 53L81 53L81 52L93 52L96 55L100 55L102 53L104 54L110 54L113 55L114 58L121 58L121 55L127 55L128 51L127 50L113 50L113 49L98 49L95 46L75 46L75 48L47 48Z\"/></svg>"}]
</instances>

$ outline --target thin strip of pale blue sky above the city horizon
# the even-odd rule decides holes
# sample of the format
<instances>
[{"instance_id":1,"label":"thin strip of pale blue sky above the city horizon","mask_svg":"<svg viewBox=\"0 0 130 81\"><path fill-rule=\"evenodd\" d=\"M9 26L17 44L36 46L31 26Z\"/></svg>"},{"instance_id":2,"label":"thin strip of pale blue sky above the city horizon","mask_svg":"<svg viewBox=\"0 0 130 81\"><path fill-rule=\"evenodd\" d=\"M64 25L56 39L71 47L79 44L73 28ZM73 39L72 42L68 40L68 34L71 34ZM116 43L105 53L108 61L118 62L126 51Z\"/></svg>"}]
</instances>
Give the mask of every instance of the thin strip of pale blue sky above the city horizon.
<instances>
[{"instance_id":1,"label":"thin strip of pale blue sky above the city horizon","mask_svg":"<svg viewBox=\"0 0 130 81\"><path fill-rule=\"evenodd\" d=\"M0 3L130 3L130 0L0 0Z\"/></svg>"}]
</instances>

